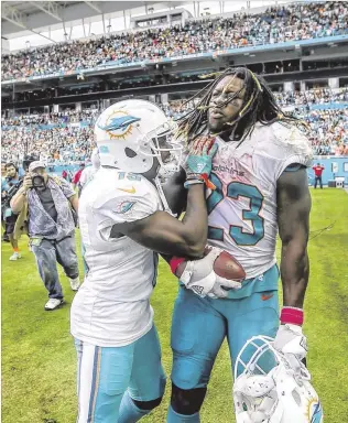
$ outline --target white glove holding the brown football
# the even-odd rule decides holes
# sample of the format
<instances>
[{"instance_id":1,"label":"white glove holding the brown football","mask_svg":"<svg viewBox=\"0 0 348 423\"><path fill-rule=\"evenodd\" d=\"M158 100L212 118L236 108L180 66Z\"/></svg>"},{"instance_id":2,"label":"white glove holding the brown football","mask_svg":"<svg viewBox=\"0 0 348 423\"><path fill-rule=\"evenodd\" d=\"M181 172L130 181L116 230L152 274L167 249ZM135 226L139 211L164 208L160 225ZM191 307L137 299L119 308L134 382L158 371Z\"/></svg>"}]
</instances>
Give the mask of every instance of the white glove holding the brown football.
<instances>
[{"instance_id":1,"label":"white glove holding the brown football","mask_svg":"<svg viewBox=\"0 0 348 423\"><path fill-rule=\"evenodd\" d=\"M240 282L220 278L214 272L214 262L221 251L213 247L203 259L187 261L180 281L200 297L208 295L213 299L226 299L228 290L239 290Z\"/></svg>"}]
</instances>

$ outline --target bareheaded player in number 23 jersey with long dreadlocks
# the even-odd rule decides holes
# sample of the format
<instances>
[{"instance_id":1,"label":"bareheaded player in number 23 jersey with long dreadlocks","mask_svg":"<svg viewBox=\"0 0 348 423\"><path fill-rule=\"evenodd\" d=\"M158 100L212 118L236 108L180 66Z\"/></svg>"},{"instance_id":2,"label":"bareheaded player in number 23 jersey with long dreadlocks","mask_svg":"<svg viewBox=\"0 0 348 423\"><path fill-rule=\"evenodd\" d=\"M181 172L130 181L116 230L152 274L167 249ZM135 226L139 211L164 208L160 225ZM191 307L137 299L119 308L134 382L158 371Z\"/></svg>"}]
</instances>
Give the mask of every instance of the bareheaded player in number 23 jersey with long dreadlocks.
<instances>
[{"instance_id":1,"label":"bareheaded player in number 23 jersey with long dreadlocks","mask_svg":"<svg viewBox=\"0 0 348 423\"><path fill-rule=\"evenodd\" d=\"M208 243L232 254L247 276L229 291L224 286L217 290L218 283L213 289L205 286L202 278L200 296L181 283L172 325L168 423L199 422L225 337L233 366L247 340L259 335L275 337L275 348L292 354L297 362L306 355L302 324L309 273L306 167L312 150L300 131L301 122L284 115L264 80L247 68L226 69L194 98L200 100L180 120L181 137L189 147L200 135L215 135L219 147L210 173L215 189L206 194ZM176 213L185 204L183 181L184 173L165 187ZM280 273L278 232L282 241ZM199 270L196 261L195 271L183 278L191 262L172 258L170 263L186 283ZM283 284L281 313L279 274Z\"/></svg>"}]
</instances>

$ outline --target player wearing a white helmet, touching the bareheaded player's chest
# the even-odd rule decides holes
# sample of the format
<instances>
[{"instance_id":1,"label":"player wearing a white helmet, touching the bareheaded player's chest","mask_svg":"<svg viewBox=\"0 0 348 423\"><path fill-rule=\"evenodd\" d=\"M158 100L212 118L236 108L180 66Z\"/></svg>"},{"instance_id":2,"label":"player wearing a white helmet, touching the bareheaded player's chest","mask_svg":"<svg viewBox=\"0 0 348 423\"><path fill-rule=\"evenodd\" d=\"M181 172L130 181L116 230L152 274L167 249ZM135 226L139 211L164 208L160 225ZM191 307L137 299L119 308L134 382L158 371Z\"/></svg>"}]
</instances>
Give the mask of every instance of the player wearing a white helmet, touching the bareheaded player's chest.
<instances>
[{"instance_id":1,"label":"player wearing a white helmet, touching the bareheaded player's chest","mask_svg":"<svg viewBox=\"0 0 348 423\"><path fill-rule=\"evenodd\" d=\"M203 257L204 181L217 150L211 138L192 145L181 221L171 215L157 178L161 171L178 170L182 145L172 142L173 129L157 106L133 99L110 106L96 122L101 167L79 200L88 273L70 312L78 423L137 422L163 397L165 375L149 301L156 252ZM167 162L170 156L174 161Z\"/></svg>"}]
</instances>

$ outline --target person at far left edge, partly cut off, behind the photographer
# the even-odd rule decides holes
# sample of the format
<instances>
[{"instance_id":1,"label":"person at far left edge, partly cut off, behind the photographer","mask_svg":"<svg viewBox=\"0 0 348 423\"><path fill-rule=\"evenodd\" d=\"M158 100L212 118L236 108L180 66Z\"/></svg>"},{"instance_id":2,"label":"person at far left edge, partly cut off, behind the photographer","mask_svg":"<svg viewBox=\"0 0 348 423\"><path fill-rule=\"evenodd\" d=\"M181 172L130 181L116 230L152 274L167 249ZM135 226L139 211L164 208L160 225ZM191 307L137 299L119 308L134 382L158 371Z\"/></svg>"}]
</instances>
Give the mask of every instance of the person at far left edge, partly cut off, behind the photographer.
<instances>
[{"instance_id":1,"label":"person at far left edge, partly cut off, behind the photographer","mask_svg":"<svg viewBox=\"0 0 348 423\"><path fill-rule=\"evenodd\" d=\"M18 167L13 163L7 163L4 165L4 170L7 175L1 181L1 209L2 218L4 221L4 240L6 237L8 237L9 241L11 242L13 253L10 257L10 260L15 261L21 258L18 248L18 240L13 237L14 225L18 215L12 213L10 207L10 199L23 178L19 176Z\"/></svg>"}]
</instances>

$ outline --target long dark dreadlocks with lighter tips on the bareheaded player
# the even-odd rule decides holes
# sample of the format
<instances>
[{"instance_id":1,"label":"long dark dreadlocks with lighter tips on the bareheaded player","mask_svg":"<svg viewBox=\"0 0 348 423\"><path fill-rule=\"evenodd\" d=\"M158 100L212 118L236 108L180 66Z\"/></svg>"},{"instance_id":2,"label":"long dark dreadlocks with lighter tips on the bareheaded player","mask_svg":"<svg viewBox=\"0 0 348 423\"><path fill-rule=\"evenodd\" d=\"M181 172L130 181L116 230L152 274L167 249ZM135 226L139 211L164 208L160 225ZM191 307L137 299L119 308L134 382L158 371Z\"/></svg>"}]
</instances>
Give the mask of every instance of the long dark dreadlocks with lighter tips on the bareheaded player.
<instances>
[{"instance_id":1,"label":"long dark dreadlocks with lighter tips on the bareheaded player","mask_svg":"<svg viewBox=\"0 0 348 423\"><path fill-rule=\"evenodd\" d=\"M272 124L275 121L287 123L298 123L298 119L292 115L284 113L278 106L276 100L268 87L264 79L254 75L247 67L227 68L218 74L205 75L202 78L209 78L215 76L215 79L209 83L205 88L196 93L192 98L183 104L194 102L200 98L193 110L188 111L178 119L177 137L185 139L187 144L202 134L209 132L208 130L208 110L213 93L217 85L227 76L233 76L244 82L242 89L244 89L243 102L239 113L233 117L231 122L224 126L222 130L211 135L220 135L230 132L231 137L242 142L254 129L257 122L262 124ZM238 93L231 94L227 98L222 107L227 106ZM214 106L216 107L216 106Z\"/></svg>"}]
</instances>

